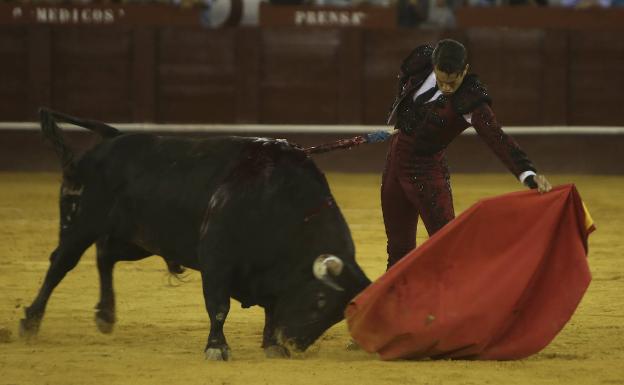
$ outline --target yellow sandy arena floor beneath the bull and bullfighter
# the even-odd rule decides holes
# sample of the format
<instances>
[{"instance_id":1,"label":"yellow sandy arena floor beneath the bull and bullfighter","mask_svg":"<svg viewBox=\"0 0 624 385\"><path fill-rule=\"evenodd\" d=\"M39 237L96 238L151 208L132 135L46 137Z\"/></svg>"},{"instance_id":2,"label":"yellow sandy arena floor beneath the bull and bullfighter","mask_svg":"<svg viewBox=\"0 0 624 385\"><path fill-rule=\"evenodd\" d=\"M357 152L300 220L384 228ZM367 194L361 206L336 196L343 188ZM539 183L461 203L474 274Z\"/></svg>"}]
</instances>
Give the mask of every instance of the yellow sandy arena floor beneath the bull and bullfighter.
<instances>
[{"instance_id":1,"label":"yellow sandy arena floor beneath the bull and bullfighter","mask_svg":"<svg viewBox=\"0 0 624 385\"><path fill-rule=\"evenodd\" d=\"M385 268L378 175L328 175L371 279ZM624 178L551 175L576 183L598 231L590 237L593 273L581 306L543 352L522 361L395 361L345 350L346 326L330 329L303 357L266 359L260 308L236 303L226 323L233 351L207 362L208 333L199 274L172 286L160 258L119 263L118 323L112 335L93 322L98 278L93 249L57 287L39 337L17 337L58 233L59 176L0 174L0 384L624 384ZM456 211L477 199L522 188L509 175L456 175ZM426 235L420 227L419 241Z\"/></svg>"}]
</instances>

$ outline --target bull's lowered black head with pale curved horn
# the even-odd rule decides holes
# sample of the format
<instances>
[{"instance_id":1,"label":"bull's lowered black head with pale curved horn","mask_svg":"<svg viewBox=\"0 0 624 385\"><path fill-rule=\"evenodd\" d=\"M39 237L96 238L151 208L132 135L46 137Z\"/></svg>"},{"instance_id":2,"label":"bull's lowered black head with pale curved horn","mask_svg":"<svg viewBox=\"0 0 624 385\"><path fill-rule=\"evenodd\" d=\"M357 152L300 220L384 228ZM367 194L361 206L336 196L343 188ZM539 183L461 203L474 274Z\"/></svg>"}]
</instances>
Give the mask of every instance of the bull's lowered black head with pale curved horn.
<instances>
[{"instance_id":1,"label":"bull's lowered black head with pale curved horn","mask_svg":"<svg viewBox=\"0 0 624 385\"><path fill-rule=\"evenodd\" d=\"M311 267L309 278L281 298L275 309L276 335L288 349L307 349L344 318L349 301L370 284L352 259L325 254Z\"/></svg>"}]
</instances>

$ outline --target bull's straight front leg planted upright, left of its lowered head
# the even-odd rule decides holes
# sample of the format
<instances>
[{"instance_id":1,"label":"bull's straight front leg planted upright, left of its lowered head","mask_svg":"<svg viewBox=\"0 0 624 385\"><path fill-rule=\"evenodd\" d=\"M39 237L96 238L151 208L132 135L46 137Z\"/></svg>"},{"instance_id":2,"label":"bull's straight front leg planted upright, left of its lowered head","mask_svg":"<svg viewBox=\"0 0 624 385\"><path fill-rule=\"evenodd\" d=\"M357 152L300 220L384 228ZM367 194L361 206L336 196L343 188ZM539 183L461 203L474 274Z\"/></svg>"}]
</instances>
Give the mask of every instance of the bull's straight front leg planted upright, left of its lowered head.
<instances>
[{"instance_id":1,"label":"bull's straight front leg planted upright, left of its lowered head","mask_svg":"<svg viewBox=\"0 0 624 385\"><path fill-rule=\"evenodd\" d=\"M210 317L210 334L206 343L206 359L211 361L227 361L231 351L223 334L223 325L230 311L230 280L229 274L220 271L211 274L202 271L202 286L206 310Z\"/></svg>"}]
</instances>

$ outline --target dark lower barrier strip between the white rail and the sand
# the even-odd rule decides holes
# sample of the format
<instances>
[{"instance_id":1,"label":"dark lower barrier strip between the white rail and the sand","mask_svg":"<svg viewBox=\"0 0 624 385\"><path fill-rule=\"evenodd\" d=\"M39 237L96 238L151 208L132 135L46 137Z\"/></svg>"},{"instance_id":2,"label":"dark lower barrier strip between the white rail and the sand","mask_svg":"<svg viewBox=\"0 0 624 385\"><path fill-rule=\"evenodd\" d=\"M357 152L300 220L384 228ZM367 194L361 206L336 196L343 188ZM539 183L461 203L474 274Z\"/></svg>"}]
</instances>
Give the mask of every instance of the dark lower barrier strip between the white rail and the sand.
<instances>
[{"instance_id":1,"label":"dark lower barrier strip between the white rail and the sand","mask_svg":"<svg viewBox=\"0 0 624 385\"><path fill-rule=\"evenodd\" d=\"M171 131L156 131L170 135ZM278 137L302 147L330 143L353 136L352 132L334 133L275 133L270 131L236 132L183 132L182 136L210 137L215 135L243 135ZM92 147L99 141L88 130L66 131L65 140L73 148ZM565 135L514 135L541 173L611 174L624 175L622 148L624 135L565 134ZM388 143L362 145L349 151L330 151L314 155L314 161L323 171L373 172L381 175ZM449 146L448 162L454 173L507 173L503 163L477 135L460 135ZM4 171L60 171L60 161L52 145L43 140L35 130L0 130L0 172ZM509 180L512 175L509 174ZM519 187L520 188L520 187Z\"/></svg>"}]
</instances>

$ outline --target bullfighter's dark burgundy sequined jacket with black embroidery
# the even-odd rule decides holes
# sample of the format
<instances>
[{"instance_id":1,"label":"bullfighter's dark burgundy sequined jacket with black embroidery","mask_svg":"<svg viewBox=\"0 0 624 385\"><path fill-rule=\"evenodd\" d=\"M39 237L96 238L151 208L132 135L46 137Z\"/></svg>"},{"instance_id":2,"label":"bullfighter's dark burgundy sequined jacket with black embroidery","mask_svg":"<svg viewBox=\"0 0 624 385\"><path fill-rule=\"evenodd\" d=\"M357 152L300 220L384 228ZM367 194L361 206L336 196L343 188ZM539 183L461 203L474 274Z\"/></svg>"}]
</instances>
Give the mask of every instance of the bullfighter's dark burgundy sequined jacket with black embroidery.
<instances>
[{"instance_id":1,"label":"bullfighter's dark burgundy sequined jacket with black embroidery","mask_svg":"<svg viewBox=\"0 0 624 385\"><path fill-rule=\"evenodd\" d=\"M432 52L430 46L420 46L401 66L399 89L388 118L388 123L395 121L394 126L400 131L396 150L404 155L409 153L412 159L433 156L472 125L516 177L524 171L535 171L525 152L501 129L490 106L492 100L477 75L466 75L451 97L441 95L431 102L418 103L418 98L414 101L414 93L433 71Z\"/></svg>"}]
</instances>

